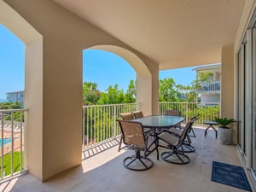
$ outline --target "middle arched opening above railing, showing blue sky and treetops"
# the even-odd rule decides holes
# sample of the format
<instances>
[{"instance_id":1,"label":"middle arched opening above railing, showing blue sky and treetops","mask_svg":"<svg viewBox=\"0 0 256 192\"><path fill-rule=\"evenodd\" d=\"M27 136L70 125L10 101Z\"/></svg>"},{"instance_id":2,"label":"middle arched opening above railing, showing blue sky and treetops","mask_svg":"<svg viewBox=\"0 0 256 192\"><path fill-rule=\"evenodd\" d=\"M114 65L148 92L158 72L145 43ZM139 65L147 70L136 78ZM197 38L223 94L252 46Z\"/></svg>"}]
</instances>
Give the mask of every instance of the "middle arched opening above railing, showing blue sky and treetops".
<instances>
[{"instance_id":1,"label":"middle arched opening above railing, showing blue sky and treetops","mask_svg":"<svg viewBox=\"0 0 256 192\"><path fill-rule=\"evenodd\" d=\"M102 49L84 49L84 105L136 102L135 80L135 70L119 55Z\"/></svg>"}]
</instances>

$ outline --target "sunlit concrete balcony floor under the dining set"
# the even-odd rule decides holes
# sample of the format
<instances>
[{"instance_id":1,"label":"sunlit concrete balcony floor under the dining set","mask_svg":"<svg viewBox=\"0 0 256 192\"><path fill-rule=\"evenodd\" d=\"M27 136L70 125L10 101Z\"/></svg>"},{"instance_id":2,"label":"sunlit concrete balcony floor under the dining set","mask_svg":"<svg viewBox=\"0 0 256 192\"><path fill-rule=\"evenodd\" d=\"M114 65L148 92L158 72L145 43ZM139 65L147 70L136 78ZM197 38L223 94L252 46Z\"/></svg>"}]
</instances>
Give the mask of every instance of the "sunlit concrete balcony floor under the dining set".
<instances>
[{"instance_id":1,"label":"sunlit concrete balcony floor under the dining set","mask_svg":"<svg viewBox=\"0 0 256 192\"><path fill-rule=\"evenodd\" d=\"M123 160L131 151L117 152L114 142L83 152L82 166L41 183L31 174L15 178L0 185L0 191L60 191L60 192L234 192L244 191L211 181L212 160L241 166L236 146L221 145L213 131L204 137L204 129L195 129L192 137L195 153L189 154L190 163L173 165L156 160L150 154L154 166L145 172L125 169ZM117 143L117 142L115 142ZM106 150L105 150L106 149ZM166 150L166 149L160 149ZM102 151L102 153L96 154ZM67 157L68 158L68 157Z\"/></svg>"}]
</instances>

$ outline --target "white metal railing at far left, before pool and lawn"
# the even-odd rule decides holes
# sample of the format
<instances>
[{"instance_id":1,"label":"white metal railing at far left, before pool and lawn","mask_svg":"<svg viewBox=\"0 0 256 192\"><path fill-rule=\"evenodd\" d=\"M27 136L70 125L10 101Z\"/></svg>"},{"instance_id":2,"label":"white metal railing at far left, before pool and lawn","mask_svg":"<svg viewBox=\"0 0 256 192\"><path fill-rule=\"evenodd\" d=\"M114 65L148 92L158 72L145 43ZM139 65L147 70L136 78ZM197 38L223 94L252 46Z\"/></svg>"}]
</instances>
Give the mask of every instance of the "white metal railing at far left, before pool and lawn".
<instances>
[{"instance_id":1,"label":"white metal railing at far left, before pool and lawn","mask_svg":"<svg viewBox=\"0 0 256 192\"><path fill-rule=\"evenodd\" d=\"M24 119L28 109L0 110L0 181L26 172L24 166Z\"/></svg>"}]
</instances>

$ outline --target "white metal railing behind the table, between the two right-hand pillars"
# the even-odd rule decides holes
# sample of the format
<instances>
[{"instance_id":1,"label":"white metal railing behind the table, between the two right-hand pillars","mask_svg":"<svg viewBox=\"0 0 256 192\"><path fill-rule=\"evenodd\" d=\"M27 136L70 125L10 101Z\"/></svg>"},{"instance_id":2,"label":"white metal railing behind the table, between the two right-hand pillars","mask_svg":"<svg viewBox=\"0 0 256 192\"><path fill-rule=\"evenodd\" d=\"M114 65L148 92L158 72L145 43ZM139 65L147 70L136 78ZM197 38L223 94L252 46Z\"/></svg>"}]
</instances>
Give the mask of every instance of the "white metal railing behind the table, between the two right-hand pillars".
<instances>
[{"instance_id":1,"label":"white metal railing behind the table, between the two right-hand pillars","mask_svg":"<svg viewBox=\"0 0 256 192\"><path fill-rule=\"evenodd\" d=\"M159 112L164 114L166 109L181 111L186 122L197 114L200 114L196 125L203 125L206 120L219 117L219 102L159 102Z\"/></svg>"}]
</instances>

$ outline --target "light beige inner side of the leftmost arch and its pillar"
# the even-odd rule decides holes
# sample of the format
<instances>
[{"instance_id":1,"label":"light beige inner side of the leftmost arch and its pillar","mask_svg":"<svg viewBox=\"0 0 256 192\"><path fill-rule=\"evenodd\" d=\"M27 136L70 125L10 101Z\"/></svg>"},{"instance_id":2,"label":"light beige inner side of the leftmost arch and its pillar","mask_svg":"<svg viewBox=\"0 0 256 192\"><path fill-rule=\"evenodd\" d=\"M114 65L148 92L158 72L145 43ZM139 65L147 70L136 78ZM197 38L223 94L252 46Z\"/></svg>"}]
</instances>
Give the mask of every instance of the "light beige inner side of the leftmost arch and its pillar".
<instances>
[{"instance_id":1,"label":"light beige inner side of the leftmost arch and its pillar","mask_svg":"<svg viewBox=\"0 0 256 192\"><path fill-rule=\"evenodd\" d=\"M25 167L41 175L43 127L43 37L7 3L0 1L0 23L25 44L24 108L32 113L26 119L24 133ZM35 150L37 148L37 150Z\"/></svg>"}]
</instances>

